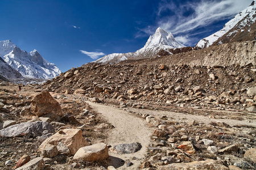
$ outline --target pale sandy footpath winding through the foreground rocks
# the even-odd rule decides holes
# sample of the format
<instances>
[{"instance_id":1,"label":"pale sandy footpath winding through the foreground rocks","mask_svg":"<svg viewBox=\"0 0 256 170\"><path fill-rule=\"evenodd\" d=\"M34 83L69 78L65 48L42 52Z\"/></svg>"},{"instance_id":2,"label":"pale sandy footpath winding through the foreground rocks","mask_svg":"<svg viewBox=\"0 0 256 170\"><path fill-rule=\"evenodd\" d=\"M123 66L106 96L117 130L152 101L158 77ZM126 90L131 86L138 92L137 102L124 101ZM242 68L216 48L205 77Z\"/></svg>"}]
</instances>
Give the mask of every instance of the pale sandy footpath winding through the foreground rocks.
<instances>
[{"instance_id":1,"label":"pale sandy footpath winding through the foreground rocks","mask_svg":"<svg viewBox=\"0 0 256 170\"><path fill-rule=\"evenodd\" d=\"M107 142L111 146L122 143L139 142L142 145L141 150L133 154L114 154L109 152L110 164L117 169L137 169L141 160L133 160L134 157L143 159L147 153L146 146L150 144L150 137L154 128L149 128L147 122L143 118L135 116L135 114L123 111L122 109L89 102L90 107L102 115L115 128L108 134ZM130 160L134 165L126 167L123 160ZM123 164L123 165L122 165ZM122 166L121 166L122 165Z\"/></svg>"}]
</instances>

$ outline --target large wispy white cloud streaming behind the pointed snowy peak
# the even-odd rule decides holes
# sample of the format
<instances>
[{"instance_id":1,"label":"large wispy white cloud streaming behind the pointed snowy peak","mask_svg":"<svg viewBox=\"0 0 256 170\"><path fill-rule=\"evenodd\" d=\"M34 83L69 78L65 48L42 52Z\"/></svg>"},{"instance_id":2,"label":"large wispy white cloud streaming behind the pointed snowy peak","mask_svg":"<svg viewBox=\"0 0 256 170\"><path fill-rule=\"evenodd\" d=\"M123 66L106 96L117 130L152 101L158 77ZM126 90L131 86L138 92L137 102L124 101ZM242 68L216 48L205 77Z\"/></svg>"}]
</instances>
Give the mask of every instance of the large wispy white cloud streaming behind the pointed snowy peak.
<instances>
[{"instance_id":1,"label":"large wispy white cloud streaming behind the pointed snowy peak","mask_svg":"<svg viewBox=\"0 0 256 170\"><path fill-rule=\"evenodd\" d=\"M251 0L198 0L193 2L161 0L156 10L156 22L138 29L135 37L152 35L158 27L172 32L175 39L188 44L191 34L200 34L210 25L225 19L231 19L251 3ZM168 15L170 13L170 15ZM208 27L207 27L208 26ZM224 26L224 25L223 25ZM200 31L198 31L200 29ZM195 31L197 31L195 33Z\"/></svg>"}]
</instances>

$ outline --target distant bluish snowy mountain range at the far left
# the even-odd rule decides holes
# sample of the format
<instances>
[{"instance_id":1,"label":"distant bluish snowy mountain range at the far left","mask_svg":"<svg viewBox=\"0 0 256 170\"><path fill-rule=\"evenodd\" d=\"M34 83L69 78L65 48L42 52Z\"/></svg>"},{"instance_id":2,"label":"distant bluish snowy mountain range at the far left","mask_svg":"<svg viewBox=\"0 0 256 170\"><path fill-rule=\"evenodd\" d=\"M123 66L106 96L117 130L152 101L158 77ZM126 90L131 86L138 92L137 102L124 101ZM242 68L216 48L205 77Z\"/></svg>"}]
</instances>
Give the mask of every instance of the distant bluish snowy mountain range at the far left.
<instances>
[{"instance_id":1,"label":"distant bluish snowy mountain range at the far left","mask_svg":"<svg viewBox=\"0 0 256 170\"><path fill-rule=\"evenodd\" d=\"M37 50L27 53L25 50L20 50L20 48L10 40L0 41L0 57L13 69L17 70L24 78L51 79L61 73L60 69L55 66L55 64L46 61ZM10 75L7 74L6 71L3 71L4 63L1 63L0 75L5 76L7 79L20 78L18 74L17 76L16 74Z\"/></svg>"}]
</instances>

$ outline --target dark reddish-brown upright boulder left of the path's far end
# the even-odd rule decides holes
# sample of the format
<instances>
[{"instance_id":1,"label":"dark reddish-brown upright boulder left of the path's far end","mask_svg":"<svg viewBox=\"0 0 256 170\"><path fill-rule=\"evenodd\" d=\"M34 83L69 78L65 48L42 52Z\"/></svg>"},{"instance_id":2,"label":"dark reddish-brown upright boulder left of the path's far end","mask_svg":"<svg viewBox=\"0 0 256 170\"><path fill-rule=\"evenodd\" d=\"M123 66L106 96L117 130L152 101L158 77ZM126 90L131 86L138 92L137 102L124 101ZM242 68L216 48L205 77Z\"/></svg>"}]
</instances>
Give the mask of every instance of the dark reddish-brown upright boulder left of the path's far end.
<instances>
[{"instance_id":1,"label":"dark reddish-brown upright boulder left of the path's far end","mask_svg":"<svg viewBox=\"0 0 256 170\"><path fill-rule=\"evenodd\" d=\"M62 117L63 113L60 104L53 99L48 91L42 91L41 94L36 95L34 99L31 100L31 113L34 116L46 116L47 114L56 114Z\"/></svg>"}]
</instances>

